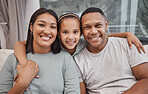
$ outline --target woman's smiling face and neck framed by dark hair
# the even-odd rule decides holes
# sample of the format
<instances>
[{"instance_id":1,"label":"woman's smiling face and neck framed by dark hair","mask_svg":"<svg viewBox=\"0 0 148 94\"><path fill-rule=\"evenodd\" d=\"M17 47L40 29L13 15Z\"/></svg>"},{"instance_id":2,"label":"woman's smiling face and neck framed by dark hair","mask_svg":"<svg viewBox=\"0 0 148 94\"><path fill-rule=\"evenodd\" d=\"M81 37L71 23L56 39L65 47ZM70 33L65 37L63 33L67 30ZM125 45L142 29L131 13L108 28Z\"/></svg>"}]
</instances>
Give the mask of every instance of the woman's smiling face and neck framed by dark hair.
<instances>
[{"instance_id":1,"label":"woman's smiling face and neck framed by dark hair","mask_svg":"<svg viewBox=\"0 0 148 94\"><path fill-rule=\"evenodd\" d=\"M37 17L35 23L30 25L33 32L33 49L50 51L51 44L57 36L57 22L54 16L44 13Z\"/></svg>"}]
</instances>

